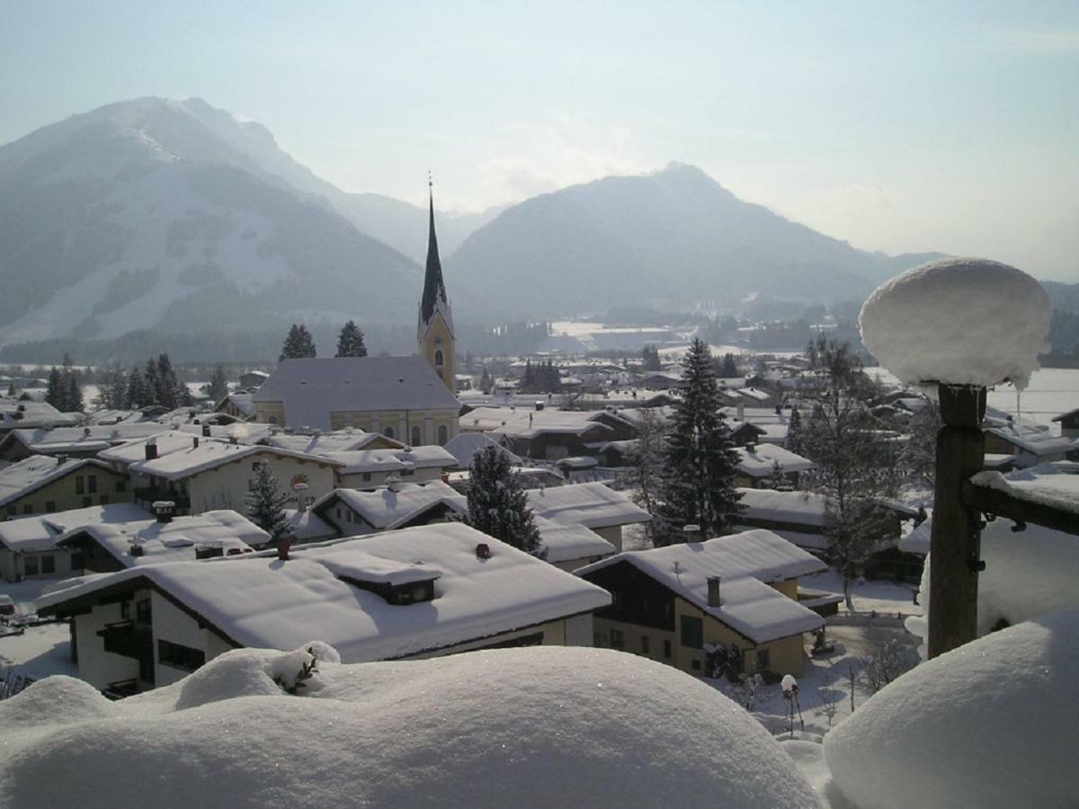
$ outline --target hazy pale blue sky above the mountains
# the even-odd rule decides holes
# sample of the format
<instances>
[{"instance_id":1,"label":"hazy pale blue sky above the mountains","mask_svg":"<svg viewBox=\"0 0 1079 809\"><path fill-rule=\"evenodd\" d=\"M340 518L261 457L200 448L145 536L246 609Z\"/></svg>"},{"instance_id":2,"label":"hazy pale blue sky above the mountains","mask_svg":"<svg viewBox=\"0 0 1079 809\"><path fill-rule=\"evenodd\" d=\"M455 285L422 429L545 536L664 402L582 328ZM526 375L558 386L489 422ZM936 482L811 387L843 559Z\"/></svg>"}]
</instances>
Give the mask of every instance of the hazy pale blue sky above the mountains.
<instances>
[{"instance_id":1,"label":"hazy pale blue sky above the mountains","mask_svg":"<svg viewBox=\"0 0 1079 809\"><path fill-rule=\"evenodd\" d=\"M1079 2L0 4L0 142L142 95L479 208L671 160L830 235L1079 282Z\"/></svg>"}]
</instances>

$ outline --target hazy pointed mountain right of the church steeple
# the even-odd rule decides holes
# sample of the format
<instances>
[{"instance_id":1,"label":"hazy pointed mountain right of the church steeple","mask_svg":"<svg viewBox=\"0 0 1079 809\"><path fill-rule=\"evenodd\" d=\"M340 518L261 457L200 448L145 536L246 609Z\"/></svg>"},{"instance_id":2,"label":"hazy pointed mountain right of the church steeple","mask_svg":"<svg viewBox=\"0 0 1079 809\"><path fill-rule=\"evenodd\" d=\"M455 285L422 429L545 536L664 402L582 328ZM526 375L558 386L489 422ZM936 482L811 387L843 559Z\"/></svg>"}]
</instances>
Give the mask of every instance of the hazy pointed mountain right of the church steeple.
<instances>
[{"instance_id":1,"label":"hazy pointed mountain right of the church steeple","mask_svg":"<svg viewBox=\"0 0 1079 809\"><path fill-rule=\"evenodd\" d=\"M733 305L754 292L860 299L938 256L855 249L672 163L525 200L474 232L446 263L506 312L557 317L653 302Z\"/></svg>"}]
</instances>

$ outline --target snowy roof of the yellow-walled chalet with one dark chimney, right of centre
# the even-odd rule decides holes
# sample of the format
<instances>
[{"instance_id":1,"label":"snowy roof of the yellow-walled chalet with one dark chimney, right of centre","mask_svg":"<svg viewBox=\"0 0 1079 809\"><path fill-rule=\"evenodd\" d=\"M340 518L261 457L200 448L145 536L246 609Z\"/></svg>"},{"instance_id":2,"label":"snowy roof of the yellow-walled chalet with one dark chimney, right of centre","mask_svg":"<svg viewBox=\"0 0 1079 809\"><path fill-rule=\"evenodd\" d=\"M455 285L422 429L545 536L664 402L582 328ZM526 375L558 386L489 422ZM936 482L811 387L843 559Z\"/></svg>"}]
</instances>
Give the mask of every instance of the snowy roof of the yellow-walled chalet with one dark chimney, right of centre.
<instances>
[{"instance_id":1,"label":"snowy roof of the yellow-walled chalet with one dark chimney, right of centre","mask_svg":"<svg viewBox=\"0 0 1079 809\"><path fill-rule=\"evenodd\" d=\"M704 543L669 545L618 553L575 571L595 571L627 562L694 606L754 643L766 643L823 626L810 609L787 598L768 581L783 581L827 565L770 531L759 529ZM720 577L720 606L709 606L708 579Z\"/></svg>"}]
</instances>

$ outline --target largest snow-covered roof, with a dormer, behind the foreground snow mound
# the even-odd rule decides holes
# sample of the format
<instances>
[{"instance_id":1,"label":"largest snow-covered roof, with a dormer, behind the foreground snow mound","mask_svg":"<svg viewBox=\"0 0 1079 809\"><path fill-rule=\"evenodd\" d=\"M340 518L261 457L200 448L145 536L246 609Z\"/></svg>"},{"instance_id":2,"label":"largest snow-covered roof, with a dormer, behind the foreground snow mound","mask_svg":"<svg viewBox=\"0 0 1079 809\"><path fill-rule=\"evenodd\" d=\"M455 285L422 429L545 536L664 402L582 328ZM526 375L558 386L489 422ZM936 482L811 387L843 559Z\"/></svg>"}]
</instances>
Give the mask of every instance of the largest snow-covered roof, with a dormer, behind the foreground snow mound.
<instances>
[{"instance_id":1,"label":"largest snow-covered roof, with a dormer, behind the foreground snow mound","mask_svg":"<svg viewBox=\"0 0 1079 809\"><path fill-rule=\"evenodd\" d=\"M489 559L477 557L480 544ZM342 579L373 560L437 573L435 600L391 605ZM38 609L141 577L243 646L292 649L317 635L347 662L415 655L611 603L606 591L475 529L439 523L293 549L285 563L272 556L175 562L72 579L42 595Z\"/></svg>"}]
</instances>

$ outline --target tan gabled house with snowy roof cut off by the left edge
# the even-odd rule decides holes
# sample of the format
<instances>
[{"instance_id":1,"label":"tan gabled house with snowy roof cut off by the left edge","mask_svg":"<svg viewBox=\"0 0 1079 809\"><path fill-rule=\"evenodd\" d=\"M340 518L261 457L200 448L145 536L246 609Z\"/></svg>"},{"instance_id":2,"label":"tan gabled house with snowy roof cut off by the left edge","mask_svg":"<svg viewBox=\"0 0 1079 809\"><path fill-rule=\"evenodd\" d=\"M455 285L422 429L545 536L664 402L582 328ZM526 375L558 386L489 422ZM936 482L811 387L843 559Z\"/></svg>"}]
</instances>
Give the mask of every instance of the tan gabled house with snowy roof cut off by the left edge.
<instances>
[{"instance_id":1,"label":"tan gabled house with snowy roof cut off by the left edge","mask_svg":"<svg viewBox=\"0 0 1079 809\"><path fill-rule=\"evenodd\" d=\"M8 519L131 499L127 478L94 458L31 455L0 469L0 513Z\"/></svg>"}]
</instances>

